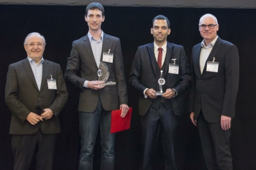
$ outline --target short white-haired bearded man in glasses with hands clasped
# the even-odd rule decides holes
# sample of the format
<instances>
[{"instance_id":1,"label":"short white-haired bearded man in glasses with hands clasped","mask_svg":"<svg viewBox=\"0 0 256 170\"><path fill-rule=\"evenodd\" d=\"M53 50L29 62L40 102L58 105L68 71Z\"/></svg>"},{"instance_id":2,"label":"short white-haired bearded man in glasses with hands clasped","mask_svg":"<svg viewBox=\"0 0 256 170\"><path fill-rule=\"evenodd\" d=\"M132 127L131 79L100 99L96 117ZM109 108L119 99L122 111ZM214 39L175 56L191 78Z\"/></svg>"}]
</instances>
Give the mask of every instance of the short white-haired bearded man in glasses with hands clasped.
<instances>
[{"instance_id":1,"label":"short white-haired bearded man in glasses with hands clasped","mask_svg":"<svg viewBox=\"0 0 256 170\"><path fill-rule=\"evenodd\" d=\"M9 65L5 98L12 112L14 169L29 169L35 152L36 169L53 168L59 113L68 92L60 65L43 58L45 45L44 36L30 33L24 42L28 58Z\"/></svg>"}]
</instances>

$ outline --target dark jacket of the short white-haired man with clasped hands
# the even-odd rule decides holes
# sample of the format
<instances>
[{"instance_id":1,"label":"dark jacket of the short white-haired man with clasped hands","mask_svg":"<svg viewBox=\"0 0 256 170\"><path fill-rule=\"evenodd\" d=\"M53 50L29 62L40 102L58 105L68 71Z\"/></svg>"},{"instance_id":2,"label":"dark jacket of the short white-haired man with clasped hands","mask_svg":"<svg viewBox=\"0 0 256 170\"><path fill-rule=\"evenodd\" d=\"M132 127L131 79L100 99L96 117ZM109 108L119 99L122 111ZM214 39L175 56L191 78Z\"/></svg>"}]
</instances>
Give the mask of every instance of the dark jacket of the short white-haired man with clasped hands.
<instances>
[{"instance_id":1,"label":"dark jacket of the short white-haired man with clasped hands","mask_svg":"<svg viewBox=\"0 0 256 170\"><path fill-rule=\"evenodd\" d=\"M57 80L57 89L48 89L47 79ZM60 132L59 113L68 99L68 92L59 64L44 59L41 89L38 89L28 58L9 65L6 82L6 103L12 112L10 134L34 134L41 128L44 134ZM54 116L32 125L30 112L37 113L36 104L50 108Z\"/></svg>"}]
</instances>

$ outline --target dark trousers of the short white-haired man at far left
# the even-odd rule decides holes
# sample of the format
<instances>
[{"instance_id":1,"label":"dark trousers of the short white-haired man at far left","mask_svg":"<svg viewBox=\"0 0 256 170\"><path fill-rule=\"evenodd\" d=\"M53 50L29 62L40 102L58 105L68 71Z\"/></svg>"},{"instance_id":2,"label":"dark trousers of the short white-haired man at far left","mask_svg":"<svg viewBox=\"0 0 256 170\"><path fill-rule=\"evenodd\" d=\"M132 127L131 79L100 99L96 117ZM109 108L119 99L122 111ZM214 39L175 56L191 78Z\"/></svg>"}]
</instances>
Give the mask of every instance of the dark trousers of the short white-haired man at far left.
<instances>
[{"instance_id":1,"label":"dark trousers of the short white-haired man at far left","mask_svg":"<svg viewBox=\"0 0 256 170\"><path fill-rule=\"evenodd\" d=\"M43 134L39 129L35 134L12 134L11 136L15 158L14 170L28 170L35 152L37 152L37 170L53 169L57 134Z\"/></svg>"}]
</instances>

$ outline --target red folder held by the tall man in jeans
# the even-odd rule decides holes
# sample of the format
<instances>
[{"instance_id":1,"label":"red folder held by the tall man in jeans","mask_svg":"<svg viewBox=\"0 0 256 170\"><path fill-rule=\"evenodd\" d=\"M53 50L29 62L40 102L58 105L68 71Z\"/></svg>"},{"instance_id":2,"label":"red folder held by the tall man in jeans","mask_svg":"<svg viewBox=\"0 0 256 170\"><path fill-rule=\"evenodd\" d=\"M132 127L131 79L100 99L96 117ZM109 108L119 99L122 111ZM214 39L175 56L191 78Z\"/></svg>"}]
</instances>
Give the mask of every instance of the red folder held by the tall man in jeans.
<instances>
[{"instance_id":1,"label":"red folder held by the tall man in jeans","mask_svg":"<svg viewBox=\"0 0 256 170\"><path fill-rule=\"evenodd\" d=\"M132 107L129 108L125 117L121 117L121 109L111 111L110 133L129 129L131 126Z\"/></svg>"}]
</instances>

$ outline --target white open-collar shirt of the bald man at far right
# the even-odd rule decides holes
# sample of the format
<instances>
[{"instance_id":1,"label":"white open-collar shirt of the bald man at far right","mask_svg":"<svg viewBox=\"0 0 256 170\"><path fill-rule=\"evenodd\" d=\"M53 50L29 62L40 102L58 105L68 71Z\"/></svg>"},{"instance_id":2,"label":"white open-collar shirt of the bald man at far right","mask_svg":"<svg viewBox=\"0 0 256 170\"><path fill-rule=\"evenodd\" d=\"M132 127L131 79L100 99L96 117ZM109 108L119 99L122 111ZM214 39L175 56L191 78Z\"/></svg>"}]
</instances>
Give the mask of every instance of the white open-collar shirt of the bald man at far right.
<instances>
[{"instance_id":1,"label":"white open-collar shirt of the bald man at far right","mask_svg":"<svg viewBox=\"0 0 256 170\"><path fill-rule=\"evenodd\" d=\"M204 39L201 42L202 48L201 48L201 52L200 52L200 61L199 61L201 73L203 72L205 62L206 62L206 60L212 50L212 47L215 44L217 39L218 39L218 35L207 46L205 45Z\"/></svg>"}]
</instances>

